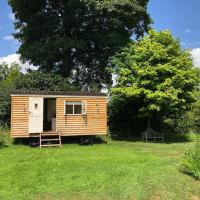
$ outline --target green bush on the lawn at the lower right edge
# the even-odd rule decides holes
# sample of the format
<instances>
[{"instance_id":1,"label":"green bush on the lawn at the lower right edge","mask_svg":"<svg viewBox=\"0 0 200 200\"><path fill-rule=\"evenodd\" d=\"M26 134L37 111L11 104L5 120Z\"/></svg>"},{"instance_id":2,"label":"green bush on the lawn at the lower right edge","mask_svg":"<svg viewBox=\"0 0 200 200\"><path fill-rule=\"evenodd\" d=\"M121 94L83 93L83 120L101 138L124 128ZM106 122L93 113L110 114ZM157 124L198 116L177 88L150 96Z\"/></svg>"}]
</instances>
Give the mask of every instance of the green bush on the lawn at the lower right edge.
<instances>
[{"instance_id":1,"label":"green bush on the lawn at the lower right edge","mask_svg":"<svg viewBox=\"0 0 200 200\"><path fill-rule=\"evenodd\" d=\"M182 171L200 180L200 146L185 153Z\"/></svg>"}]
</instances>

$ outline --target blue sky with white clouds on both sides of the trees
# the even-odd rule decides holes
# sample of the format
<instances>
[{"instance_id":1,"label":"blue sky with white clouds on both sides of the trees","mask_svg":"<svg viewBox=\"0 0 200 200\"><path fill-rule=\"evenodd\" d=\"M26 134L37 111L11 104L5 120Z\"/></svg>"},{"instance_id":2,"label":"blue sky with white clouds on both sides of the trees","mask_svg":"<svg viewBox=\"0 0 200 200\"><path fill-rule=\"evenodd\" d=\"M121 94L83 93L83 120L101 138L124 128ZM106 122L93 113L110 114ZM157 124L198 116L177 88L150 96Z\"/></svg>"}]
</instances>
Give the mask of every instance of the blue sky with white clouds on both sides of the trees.
<instances>
[{"instance_id":1,"label":"blue sky with white clouds on both sides of the trees","mask_svg":"<svg viewBox=\"0 0 200 200\"><path fill-rule=\"evenodd\" d=\"M200 66L200 0L150 0L148 12L154 21L152 27L158 31L170 30L183 49L191 49L194 64ZM20 43L11 35L13 22L7 0L0 0L0 63L20 63L16 54Z\"/></svg>"}]
</instances>

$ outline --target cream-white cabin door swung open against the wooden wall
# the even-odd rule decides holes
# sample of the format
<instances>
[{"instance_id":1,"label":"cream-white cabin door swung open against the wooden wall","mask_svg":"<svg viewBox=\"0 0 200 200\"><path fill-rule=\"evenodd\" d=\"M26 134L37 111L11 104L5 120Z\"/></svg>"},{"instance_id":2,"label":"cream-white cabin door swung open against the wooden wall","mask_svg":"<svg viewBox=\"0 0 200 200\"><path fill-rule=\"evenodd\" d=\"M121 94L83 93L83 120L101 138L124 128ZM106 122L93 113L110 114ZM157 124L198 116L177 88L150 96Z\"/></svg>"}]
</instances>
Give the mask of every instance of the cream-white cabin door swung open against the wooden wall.
<instances>
[{"instance_id":1,"label":"cream-white cabin door swung open against the wooden wall","mask_svg":"<svg viewBox=\"0 0 200 200\"><path fill-rule=\"evenodd\" d=\"M43 98L29 98L29 133L43 132Z\"/></svg>"}]
</instances>

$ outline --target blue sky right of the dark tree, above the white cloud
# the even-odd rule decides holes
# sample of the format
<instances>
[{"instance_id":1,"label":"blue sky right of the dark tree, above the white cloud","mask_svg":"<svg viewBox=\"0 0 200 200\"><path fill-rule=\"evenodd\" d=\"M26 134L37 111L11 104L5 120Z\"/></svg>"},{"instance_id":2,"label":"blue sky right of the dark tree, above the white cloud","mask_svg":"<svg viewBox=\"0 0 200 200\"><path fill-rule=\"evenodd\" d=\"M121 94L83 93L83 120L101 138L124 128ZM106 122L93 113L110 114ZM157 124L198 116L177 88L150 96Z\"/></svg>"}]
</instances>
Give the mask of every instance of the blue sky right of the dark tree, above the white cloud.
<instances>
[{"instance_id":1,"label":"blue sky right of the dark tree, above the white cloud","mask_svg":"<svg viewBox=\"0 0 200 200\"><path fill-rule=\"evenodd\" d=\"M200 47L200 0L150 0L156 30L169 29L183 48Z\"/></svg>"}]
</instances>

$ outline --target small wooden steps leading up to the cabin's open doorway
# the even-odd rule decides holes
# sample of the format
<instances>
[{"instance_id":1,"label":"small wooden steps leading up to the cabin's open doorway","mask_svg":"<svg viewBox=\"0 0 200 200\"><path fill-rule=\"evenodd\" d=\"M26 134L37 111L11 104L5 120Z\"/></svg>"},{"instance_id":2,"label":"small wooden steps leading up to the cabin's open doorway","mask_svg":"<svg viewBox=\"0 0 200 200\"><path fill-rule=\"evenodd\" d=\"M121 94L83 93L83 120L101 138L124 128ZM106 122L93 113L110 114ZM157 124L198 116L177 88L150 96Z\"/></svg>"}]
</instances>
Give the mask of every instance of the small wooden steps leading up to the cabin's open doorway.
<instances>
[{"instance_id":1,"label":"small wooden steps leading up to the cabin's open doorway","mask_svg":"<svg viewBox=\"0 0 200 200\"><path fill-rule=\"evenodd\" d=\"M40 133L40 148L61 146L61 136L58 132Z\"/></svg>"}]
</instances>

